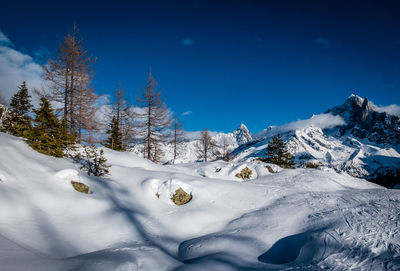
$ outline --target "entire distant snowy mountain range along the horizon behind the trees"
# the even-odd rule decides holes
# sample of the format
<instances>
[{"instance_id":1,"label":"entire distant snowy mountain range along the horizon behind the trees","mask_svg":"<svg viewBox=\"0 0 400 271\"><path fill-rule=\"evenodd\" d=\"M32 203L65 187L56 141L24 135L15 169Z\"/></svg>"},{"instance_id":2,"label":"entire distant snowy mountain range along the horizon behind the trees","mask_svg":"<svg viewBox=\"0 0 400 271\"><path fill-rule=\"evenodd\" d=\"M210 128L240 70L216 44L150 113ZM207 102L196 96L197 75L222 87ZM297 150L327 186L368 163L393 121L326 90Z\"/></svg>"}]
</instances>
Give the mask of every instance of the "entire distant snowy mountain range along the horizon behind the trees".
<instances>
[{"instance_id":1,"label":"entire distant snowy mountain range along the horizon behind the trees","mask_svg":"<svg viewBox=\"0 0 400 271\"><path fill-rule=\"evenodd\" d=\"M0 125L8 108L0 105ZM217 143L216 155L226 142L234 161L254 160L265 155L271 138L281 134L295 156L298 167L307 163L354 177L374 180L387 187L400 184L400 118L382 112L367 98L351 95L343 104L314 115L308 120L271 126L253 135L241 124L231 133L210 132ZM178 158L173 161L173 145L164 143L165 163L188 163L199 160L199 132L188 132L178 144ZM142 154L141 146L131 152Z\"/></svg>"}]
</instances>

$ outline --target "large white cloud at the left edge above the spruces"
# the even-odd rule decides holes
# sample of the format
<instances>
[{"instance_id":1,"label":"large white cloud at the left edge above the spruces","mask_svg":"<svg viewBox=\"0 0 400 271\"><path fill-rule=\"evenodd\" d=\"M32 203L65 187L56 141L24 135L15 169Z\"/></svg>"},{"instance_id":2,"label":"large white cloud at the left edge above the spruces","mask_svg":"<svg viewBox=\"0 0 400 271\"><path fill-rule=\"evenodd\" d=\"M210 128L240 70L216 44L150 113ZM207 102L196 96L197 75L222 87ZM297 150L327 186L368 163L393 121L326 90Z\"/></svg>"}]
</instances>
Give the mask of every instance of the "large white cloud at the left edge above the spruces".
<instances>
[{"instance_id":1,"label":"large white cloud at the left edge above the spruces","mask_svg":"<svg viewBox=\"0 0 400 271\"><path fill-rule=\"evenodd\" d=\"M26 81L32 94L43 87L42 68L33 58L12 48L11 41L0 30L0 94L9 102L18 86Z\"/></svg>"}]
</instances>

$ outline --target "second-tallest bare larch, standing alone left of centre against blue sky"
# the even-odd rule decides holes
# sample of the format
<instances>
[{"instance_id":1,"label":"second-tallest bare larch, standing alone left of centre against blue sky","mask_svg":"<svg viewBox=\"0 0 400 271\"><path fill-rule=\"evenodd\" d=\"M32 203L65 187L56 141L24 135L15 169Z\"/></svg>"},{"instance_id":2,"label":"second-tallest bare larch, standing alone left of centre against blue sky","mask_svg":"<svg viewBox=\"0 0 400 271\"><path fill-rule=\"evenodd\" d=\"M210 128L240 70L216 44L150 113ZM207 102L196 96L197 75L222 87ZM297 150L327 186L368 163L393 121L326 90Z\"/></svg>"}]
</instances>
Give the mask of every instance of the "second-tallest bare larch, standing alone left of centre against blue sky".
<instances>
[{"instance_id":1,"label":"second-tallest bare larch, standing alone left of centre against blue sky","mask_svg":"<svg viewBox=\"0 0 400 271\"><path fill-rule=\"evenodd\" d=\"M165 102L161 99L161 91L156 91L157 82L151 71L146 82L146 87L137 102L141 107L136 113L138 120L138 138L143 143L145 158L160 162L162 151L160 144L165 141L165 129L171 124L171 117Z\"/></svg>"}]
</instances>

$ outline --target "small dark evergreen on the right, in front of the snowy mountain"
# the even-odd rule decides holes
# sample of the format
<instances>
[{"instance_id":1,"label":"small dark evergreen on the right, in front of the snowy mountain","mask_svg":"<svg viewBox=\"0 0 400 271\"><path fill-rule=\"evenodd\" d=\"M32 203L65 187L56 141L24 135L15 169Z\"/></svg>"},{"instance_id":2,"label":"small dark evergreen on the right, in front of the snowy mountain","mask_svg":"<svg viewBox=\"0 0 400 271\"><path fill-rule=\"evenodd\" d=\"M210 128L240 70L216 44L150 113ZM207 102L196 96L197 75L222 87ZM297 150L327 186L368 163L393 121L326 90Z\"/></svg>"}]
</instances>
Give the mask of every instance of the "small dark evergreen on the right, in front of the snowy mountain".
<instances>
[{"instance_id":1,"label":"small dark evergreen on the right, in front of the snowy mountain","mask_svg":"<svg viewBox=\"0 0 400 271\"><path fill-rule=\"evenodd\" d=\"M261 161L276 164L283 168L294 168L294 157L287 151L285 142L280 135L272 138L268 143L265 152L266 158L260 158Z\"/></svg>"}]
</instances>

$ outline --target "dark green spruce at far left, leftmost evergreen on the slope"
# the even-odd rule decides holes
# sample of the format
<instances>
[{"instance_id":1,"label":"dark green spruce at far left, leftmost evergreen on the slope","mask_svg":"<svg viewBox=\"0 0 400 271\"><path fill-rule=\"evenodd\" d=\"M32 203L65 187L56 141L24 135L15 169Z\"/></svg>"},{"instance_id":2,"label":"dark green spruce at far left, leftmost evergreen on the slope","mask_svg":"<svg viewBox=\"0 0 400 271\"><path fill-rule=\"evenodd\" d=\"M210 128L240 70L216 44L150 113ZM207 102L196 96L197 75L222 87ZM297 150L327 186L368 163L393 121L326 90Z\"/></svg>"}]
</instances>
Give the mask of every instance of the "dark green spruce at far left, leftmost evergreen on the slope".
<instances>
[{"instance_id":1,"label":"dark green spruce at far left, leftmost evergreen on the slope","mask_svg":"<svg viewBox=\"0 0 400 271\"><path fill-rule=\"evenodd\" d=\"M27 115L32 108L31 96L25 81L18 87L17 93L11 98L11 114L4 121L5 130L12 135L22 136L30 128L30 118Z\"/></svg>"}]
</instances>

